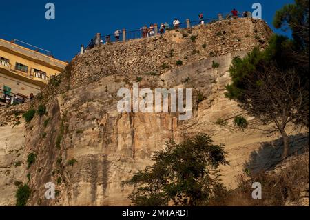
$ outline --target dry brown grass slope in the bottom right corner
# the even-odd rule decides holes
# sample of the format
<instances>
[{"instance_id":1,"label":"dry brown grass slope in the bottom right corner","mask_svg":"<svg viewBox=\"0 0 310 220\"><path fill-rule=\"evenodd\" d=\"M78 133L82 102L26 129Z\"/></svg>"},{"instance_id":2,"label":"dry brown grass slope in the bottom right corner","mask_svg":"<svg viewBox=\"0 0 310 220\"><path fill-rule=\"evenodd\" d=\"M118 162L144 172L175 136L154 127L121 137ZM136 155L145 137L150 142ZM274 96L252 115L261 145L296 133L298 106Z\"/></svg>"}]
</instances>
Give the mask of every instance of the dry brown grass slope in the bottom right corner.
<instances>
[{"instance_id":1,"label":"dry brown grass slope in the bottom right corner","mask_svg":"<svg viewBox=\"0 0 310 220\"><path fill-rule=\"evenodd\" d=\"M262 199L252 199L251 184L262 184ZM302 206L301 194L309 184L309 152L287 161L282 168L238 177L238 188L223 192L210 206ZM309 199L309 198L308 198Z\"/></svg>"}]
</instances>

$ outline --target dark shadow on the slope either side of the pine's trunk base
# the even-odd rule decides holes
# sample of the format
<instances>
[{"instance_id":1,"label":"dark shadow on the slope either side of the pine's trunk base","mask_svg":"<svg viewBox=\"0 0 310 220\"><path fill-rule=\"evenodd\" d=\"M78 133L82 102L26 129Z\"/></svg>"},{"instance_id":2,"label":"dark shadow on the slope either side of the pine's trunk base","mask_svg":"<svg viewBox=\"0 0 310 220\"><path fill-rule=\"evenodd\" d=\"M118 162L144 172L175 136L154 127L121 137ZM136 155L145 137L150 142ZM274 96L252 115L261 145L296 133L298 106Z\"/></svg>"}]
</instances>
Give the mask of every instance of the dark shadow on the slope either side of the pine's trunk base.
<instances>
[{"instance_id":1,"label":"dark shadow on the slope either side of the pine's trunk base","mask_svg":"<svg viewBox=\"0 0 310 220\"><path fill-rule=\"evenodd\" d=\"M300 155L309 151L309 134L296 134L289 137L289 155ZM282 138L276 141L262 143L256 151L251 152L249 161L245 163L245 171L251 174L270 170L282 161L283 152Z\"/></svg>"}]
</instances>

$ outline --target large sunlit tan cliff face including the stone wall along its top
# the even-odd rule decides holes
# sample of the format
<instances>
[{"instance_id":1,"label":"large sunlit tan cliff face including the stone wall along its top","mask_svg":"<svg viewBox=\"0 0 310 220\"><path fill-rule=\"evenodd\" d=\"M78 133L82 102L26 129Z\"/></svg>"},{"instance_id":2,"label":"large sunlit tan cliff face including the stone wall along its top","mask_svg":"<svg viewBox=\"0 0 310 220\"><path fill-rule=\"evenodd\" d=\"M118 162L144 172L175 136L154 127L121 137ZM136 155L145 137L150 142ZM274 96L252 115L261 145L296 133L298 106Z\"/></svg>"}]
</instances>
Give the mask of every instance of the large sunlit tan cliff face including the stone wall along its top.
<instances>
[{"instance_id":1,"label":"large sunlit tan cliff face including the stone wall along its top","mask_svg":"<svg viewBox=\"0 0 310 220\"><path fill-rule=\"evenodd\" d=\"M168 32L162 38L101 46L74 58L70 75L64 73L67 77L61 78L59 88L50 86L43 92L43 100L37 101L45 103L47 114L34 117L21 139L25 141L24 158L30 152L37 154L29 170L23 166L23 173L19 172L23 182L25 174L31 173L28 205L126 206L132 188L121 187L121 181L152 164L152 153L163 149L167 140L179 142L185 135L198 132L225 144L231 164L221 168L223 183L236 187L236 175L243 172L245 163L254 168L262 166L254 163L254 152L259 154L267 142L280 137L234 128L232 121L240 114L247 117L252 127L267 130L271 125L262 125L247 116L224 95L225 85L230 82L231 60L243 57L254 46L266 46L256 34L267 42L271 31L263 21L237 19ZM196 41L190 39L191 35L198 36ZM183 60L183 66L176 66L178 59ZM220 66L212 68L213 61ZM163 68L163 63L169 68ZM175 113L118 112L118 90L132 90L136 81L140 88L192 88L192 118L179 121ZM198 101L198 93L203 94L202 101ZM218 119L225 119L227 124L218 125ZM20 126L17 128L23 124ZM4 139L0 137L0 143ZM266 161L267 156L264 157L256 162ZM56 199L45 199L48 182L56 185ZM12 194L8 197L14 201ZM11 204L2 196L1 199L5 205Z\"/></svg>"}]
</instances>

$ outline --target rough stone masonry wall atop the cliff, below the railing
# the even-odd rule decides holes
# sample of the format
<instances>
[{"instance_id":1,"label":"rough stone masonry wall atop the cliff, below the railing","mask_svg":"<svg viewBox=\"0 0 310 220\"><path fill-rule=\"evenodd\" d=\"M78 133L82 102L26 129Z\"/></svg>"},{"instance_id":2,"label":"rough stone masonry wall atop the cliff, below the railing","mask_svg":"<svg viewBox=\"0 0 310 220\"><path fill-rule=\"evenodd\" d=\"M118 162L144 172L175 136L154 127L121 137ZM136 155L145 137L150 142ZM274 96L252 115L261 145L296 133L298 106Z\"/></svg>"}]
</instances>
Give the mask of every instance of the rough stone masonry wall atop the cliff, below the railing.
<instances>
[{"instance_id":1,"label":"rough stone masonry wall atop the cliff, below the railing","mask_svg":"<svg viewBox=\"0 0 310 220\"><path fill-rule=\"evenodd\" d=\"M272 31L265 21L235 19L205 26L172 30L163 36L101 45L75 57L72 86L101 79L108 74L161 74L183 65L255 46L267 46ZM164 64L165 63L165 64Z\"/></svg>"}]
</instances>

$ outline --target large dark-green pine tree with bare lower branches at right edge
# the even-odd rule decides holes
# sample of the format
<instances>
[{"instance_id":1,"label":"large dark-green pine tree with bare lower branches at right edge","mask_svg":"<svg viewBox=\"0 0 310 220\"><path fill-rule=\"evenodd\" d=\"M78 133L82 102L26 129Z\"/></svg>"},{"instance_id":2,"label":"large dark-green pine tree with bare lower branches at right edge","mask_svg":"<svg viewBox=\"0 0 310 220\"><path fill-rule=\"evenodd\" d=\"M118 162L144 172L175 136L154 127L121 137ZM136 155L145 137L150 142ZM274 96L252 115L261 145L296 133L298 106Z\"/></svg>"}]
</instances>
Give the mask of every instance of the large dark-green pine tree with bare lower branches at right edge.
<instances>
[{"instance_id":1,"label":"large dark-green pine tree with bare lower branches at right edge","mask_svg":"<svg viewBox=\"0 0 310 220\"><path fill-rule=\"evenodd\" d=\"M277 12L276 27L289 24L293 39L275 34L265 51L255 48L244 59L234 58L229 68L232 83L226 86L226 96L249 114L276 124L283 138L283 159L289 154L287 124L309 127L308 7L309 1L296 0Z\"/></svg>"}]
</instances>

